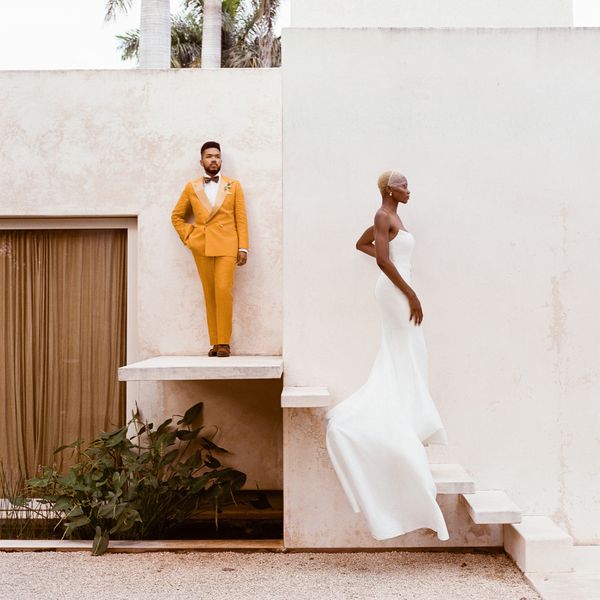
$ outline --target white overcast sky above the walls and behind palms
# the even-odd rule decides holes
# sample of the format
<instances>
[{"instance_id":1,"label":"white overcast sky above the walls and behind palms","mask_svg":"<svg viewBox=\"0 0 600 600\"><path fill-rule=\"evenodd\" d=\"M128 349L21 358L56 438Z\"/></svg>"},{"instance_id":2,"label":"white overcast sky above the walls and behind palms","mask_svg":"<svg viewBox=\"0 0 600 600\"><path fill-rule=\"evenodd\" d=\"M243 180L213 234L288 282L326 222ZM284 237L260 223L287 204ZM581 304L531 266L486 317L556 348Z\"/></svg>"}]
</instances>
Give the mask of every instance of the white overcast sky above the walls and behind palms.
<instances>
[{"instance_id":1,"label":"white overcast sky above the walls and behind palms","mask_svg":"<svg viewBox=\"0 0 600 600\"><path fill-rule=\"evenodd\" d=\"M283 0L280 24L290 18ZM178 12L183 0L171 0ZM0 70L130 69L115 36L139 26L140 1L126 15L104 22L104 0L0 0ZM578 27L600 27L600 0L574 0ZM75 49L75 50L74 50Z\"/></svg>"}]
</instances>

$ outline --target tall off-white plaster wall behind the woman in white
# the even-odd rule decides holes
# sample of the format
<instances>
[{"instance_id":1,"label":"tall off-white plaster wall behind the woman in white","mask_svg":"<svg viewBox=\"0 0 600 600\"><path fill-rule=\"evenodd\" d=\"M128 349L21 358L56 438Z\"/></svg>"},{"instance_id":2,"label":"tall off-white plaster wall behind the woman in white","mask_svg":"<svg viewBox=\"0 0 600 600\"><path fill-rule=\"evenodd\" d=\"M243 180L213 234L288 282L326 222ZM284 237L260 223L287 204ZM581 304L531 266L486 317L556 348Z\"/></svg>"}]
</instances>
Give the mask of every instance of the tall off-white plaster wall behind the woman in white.
<instances>
[{"instance_id":1,"label":"tall off-white plaster wall behind the woman in white","mask_svg":"<svg viewBox=\"0 0 600 600\"><path fill-rule=\"evenodd\" d=\"M354 243L377 175L402 170L442 454L598 543L600 32L289 29L284 44L286 385L339 401L364 381L378 272ZM363 545L322 412L286 412L288 542Z\"/></svg>"}]
</instances>

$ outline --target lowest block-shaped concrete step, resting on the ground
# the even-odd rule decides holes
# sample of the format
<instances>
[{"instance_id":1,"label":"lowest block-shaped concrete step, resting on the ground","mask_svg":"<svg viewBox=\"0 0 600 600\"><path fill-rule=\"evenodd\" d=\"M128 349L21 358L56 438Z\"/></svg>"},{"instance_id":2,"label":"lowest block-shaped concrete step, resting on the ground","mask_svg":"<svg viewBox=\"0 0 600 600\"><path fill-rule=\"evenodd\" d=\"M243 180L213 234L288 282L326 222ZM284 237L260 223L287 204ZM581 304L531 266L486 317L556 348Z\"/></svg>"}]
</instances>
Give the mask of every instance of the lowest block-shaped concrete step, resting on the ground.
<instances>
[{"instance_id":1,"label":"lowest block-shaped concrete step, resting on the ground","mask_svg":"<svg viewBox=\"0 0 600 600\"><path fill-rule=\"evenodd\" d=\"M505 525L504 549L524 572L573 570L573 539L545 516Z\"/></svg>"}]
</instances>

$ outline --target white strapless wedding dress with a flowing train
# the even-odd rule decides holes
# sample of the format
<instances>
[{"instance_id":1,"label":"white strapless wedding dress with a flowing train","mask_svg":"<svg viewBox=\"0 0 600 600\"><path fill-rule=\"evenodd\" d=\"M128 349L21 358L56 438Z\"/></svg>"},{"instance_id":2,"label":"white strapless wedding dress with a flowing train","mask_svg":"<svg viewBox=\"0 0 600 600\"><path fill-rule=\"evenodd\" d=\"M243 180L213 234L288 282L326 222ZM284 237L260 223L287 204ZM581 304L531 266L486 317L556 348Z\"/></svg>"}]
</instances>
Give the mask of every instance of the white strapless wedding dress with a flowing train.
<instances>
[{"instance_id":1,"label":"white strapless wedding dress with a flowing train","mask_svg":"<svg viewBox=\"0 0 600 600\"><path fill-rule=\"evenodd\" d=\"M414 238L400 230L390 259L410 284ZM448 539L423 442L446 444L429 394L427 350L406 296L381 273L382 339L366 383L327 413L327 450L355 512L378 540L421 527Z\"/></svg>"}]
</instances>

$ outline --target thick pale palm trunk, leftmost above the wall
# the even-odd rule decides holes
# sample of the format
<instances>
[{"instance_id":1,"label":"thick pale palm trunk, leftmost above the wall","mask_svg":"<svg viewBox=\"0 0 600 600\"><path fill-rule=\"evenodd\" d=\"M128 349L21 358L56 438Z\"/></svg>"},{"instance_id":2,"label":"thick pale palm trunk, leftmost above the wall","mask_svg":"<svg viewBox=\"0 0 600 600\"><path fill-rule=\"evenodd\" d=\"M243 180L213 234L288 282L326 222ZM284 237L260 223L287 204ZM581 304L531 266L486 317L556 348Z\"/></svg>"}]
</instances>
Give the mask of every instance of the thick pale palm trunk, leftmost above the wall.
<instances>
[{"instance_id":1,"label":"thick pale palm trunk, leftmost above the wall","mask_svg":"<svg viewBox=\"0 0 600 600\"><path fill-rule=\"evenodd\" d=\"M171 10L169 0L142 0L140 69L171 66Z\"/></svg>"}]
</instances>

